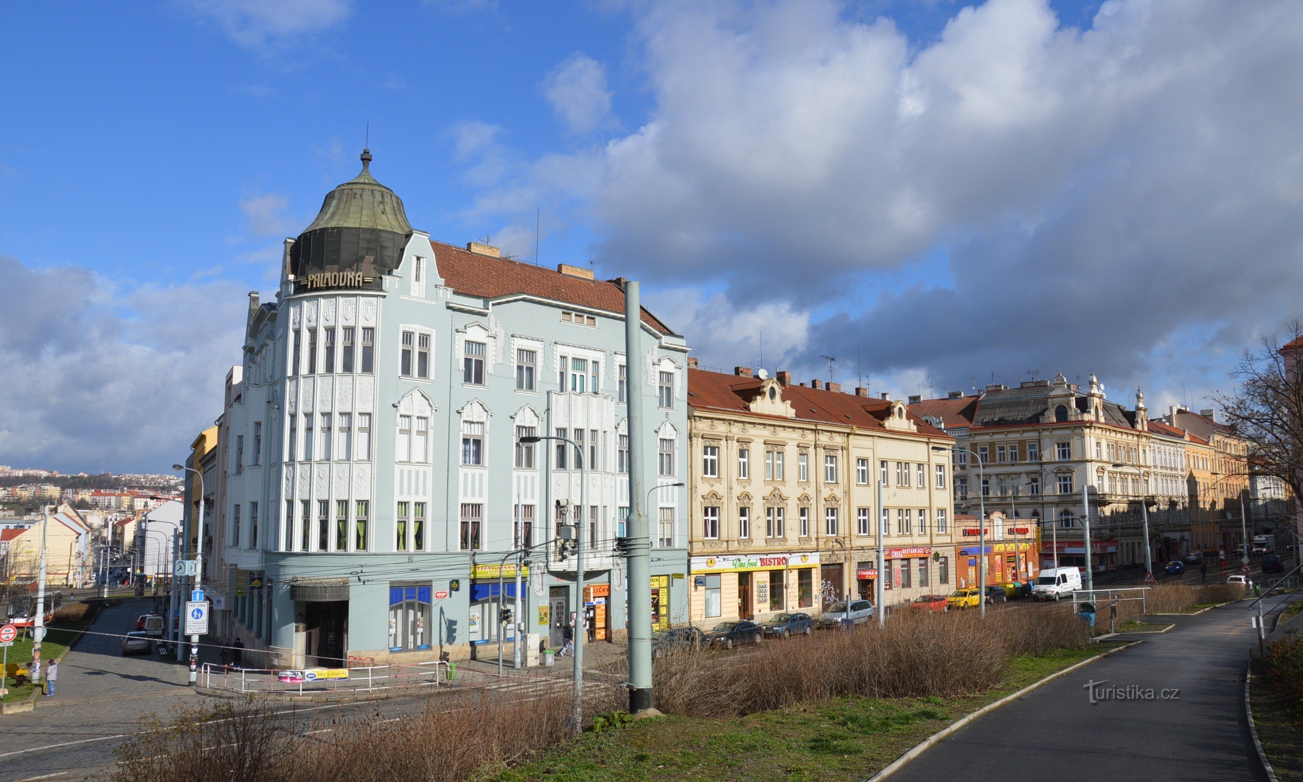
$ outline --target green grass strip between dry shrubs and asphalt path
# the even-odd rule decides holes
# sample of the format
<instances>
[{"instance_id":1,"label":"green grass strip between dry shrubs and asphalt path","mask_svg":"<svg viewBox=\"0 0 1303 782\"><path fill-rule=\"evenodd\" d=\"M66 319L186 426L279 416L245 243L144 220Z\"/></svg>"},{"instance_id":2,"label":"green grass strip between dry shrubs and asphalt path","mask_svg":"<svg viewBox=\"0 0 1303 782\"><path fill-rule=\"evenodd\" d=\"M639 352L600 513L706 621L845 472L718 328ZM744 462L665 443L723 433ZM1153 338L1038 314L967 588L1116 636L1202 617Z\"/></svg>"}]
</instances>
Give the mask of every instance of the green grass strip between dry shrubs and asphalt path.
<instances>
[{"instance_id":1,"label":"green grass strip between dry shrubs and asphalt path","mask_svg":"<svg viewBox=\"0 0 1303 782\"><path fill-rule=\"evenodd\" d=\"M843 697L747 717L665 717L576 742L477 782L810 779L863 782L959 717L1119 644L1019 657L999 689L962 699Z\"/></svg>"}]
</instances>

